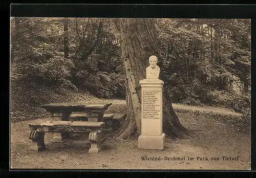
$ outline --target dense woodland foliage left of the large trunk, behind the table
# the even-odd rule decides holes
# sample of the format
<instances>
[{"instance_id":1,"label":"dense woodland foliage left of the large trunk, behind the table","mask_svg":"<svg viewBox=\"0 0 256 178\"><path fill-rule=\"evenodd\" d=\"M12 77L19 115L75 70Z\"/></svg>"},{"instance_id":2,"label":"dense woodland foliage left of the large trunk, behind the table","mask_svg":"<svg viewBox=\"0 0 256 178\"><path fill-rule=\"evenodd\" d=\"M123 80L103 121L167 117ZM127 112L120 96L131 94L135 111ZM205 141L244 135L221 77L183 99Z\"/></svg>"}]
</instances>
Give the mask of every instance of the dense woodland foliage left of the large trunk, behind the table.
<instances>
[{"instance_id":1,"label":"dense woodland foliage left of the large trunk, behind the table","mask_svg":"<svg viewBox=\"0 0 256 178\"><path fill-rule=\"evenodd\" d=\"M65 20L67 31L63 29ZM39 111L41 104L69 101L57 96L66 96L71 91L87 90L97 97L125 98L117 33L109 19L102 25L96 42L100 21L91 18L11 19L13 116L23 106L22 115L33 117L31 109ZM68 57L64 57L65 36L68 36ZM27 116L27 112L33 116ZM41 113L44 112L41 110Z\"/></svg>"}]
</instances>

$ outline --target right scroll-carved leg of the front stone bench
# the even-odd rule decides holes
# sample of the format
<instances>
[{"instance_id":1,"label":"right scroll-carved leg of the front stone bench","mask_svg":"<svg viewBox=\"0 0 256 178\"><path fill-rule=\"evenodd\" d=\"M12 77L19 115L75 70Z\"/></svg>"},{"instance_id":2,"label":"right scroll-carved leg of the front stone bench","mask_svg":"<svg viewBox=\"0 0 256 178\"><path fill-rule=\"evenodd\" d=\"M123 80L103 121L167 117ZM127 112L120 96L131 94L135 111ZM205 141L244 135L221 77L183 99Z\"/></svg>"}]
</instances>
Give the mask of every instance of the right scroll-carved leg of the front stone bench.
<instances>
[{"instance_id":1,"label":"right scroll-carved leg of the front stone bench","mask_svg":"<svg viewBox=\"0 0 256 178\"><path fill-rule=\"evenodd\" d=\"M102 132L91 132L89 134L89 141L91 141L91 148L89 153L98 153L102 149L101 146Z\"/></svg>"}]
</instances>

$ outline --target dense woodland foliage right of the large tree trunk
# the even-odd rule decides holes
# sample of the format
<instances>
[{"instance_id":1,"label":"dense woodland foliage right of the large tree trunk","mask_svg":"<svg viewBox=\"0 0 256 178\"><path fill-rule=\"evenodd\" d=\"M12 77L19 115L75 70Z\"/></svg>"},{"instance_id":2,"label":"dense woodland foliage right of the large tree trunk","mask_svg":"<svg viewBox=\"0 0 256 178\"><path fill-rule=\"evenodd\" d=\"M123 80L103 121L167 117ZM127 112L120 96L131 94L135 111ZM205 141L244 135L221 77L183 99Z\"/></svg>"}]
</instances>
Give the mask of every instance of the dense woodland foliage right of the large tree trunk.
<instances>
[{"instance_id":1,"label":"dense woodland foliage right of the large tree trunk","mask_svg":"<svg viewBox=\"0 0 256 178\"><path fill-rule=\"evenodd\" d=\"M250 91L250 20L160 19L156 27L172 102L248 108L248 99L233 93ZM230 95L222 102L213 90Z\"/></svg>"}]
</instances>

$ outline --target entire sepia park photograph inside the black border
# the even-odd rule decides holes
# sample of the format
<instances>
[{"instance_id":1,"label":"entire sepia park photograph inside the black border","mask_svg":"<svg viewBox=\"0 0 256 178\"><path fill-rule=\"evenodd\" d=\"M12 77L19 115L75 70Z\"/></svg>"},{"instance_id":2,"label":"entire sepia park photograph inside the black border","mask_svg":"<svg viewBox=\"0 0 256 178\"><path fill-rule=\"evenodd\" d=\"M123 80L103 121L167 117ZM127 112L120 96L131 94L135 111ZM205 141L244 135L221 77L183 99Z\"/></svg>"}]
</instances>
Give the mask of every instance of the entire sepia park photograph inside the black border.
<instances>
[{"instance_id":1,"label":"entire sepia park photograph inside the black border","mask_svg":"<svg viewBox=\"0 0 256 178\"><path fill-rule=\"evenodd\" d=\"M10 168L251 170L251 20L11 17Z\"/></svg>"}]
</instances>

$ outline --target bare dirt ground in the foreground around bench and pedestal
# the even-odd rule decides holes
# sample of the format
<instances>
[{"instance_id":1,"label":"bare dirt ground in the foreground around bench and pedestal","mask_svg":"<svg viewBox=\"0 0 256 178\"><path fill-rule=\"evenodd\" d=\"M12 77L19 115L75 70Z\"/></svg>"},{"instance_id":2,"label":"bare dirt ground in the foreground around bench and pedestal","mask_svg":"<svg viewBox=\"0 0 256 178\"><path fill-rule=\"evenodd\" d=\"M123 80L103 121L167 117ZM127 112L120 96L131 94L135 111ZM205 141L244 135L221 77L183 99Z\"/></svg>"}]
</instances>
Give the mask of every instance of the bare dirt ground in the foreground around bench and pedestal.
<instances>
[{"instance_id":1,"label":"bare dirt ground in the foreground around bench and pedestal","mask_svg":"<svg viewBox=\"0 0 256 178\"><path fill-rule=\"evenodd\" d=\"M174 108L185 107L176 104L173 106ZM205 110L212 112L211 109ZM224 109L221 112L230 111ZM74 136L64 143L51 143L52 133L46 134L47 150L31 151L29 150L31 140L28 139L30 121L11 123L11 168L250 169L251 148L248 133L204 115L193 113L188 115L179 112L177 115L186 128L195 131L193 138L170 140L167 137L164 150L144 150L138 149L138 136L129 141L120 142L115 139L115 134L111 133L106 135L108 138L99 154L88 153L87 135ZM141 157L160 157L163 160L143 161ZM173 157L185 157L185 160L164 160ZM187 157L195 159L188 161ZM197 157L202 159L207 157L209 161L197 161ZM238 161L223 160L223 157L238 157ZM210 158L220 158L220 160L210 160Z\"/></svg>"}]
</instances>

